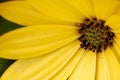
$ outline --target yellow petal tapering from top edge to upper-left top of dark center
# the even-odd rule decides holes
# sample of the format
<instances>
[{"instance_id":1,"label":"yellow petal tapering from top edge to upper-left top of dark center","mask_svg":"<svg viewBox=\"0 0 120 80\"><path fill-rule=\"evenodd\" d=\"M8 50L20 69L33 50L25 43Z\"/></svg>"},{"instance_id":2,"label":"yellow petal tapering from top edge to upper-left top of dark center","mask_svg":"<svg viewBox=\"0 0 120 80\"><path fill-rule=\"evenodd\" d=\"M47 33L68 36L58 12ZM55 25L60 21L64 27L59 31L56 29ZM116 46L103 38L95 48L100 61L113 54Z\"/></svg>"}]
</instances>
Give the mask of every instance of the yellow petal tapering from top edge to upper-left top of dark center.
<instances>
[{"instance_id":1,"label":"yellow petal tapering from top edge to upper-left top of dark center","mask_svg":"<svg viewBox=\"0 0 120 80\"><path fill-rule=\"evenodd\" d=\"M93 4L91 0L65 0L73 7L82 12L86 17L94 17Z\"/></svg>"}]
</instances>

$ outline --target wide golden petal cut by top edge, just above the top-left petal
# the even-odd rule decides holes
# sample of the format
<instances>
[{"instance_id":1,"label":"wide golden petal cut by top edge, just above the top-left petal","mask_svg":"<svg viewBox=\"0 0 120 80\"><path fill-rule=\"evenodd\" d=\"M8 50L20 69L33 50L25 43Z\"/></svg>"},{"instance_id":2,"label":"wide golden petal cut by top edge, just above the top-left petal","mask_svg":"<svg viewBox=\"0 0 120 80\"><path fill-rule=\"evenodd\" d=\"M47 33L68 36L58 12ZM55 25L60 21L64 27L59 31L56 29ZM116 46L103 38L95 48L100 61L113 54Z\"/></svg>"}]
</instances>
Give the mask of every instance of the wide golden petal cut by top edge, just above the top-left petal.
<instances>
[{"instance_id":1,"label":"wide golden petal cut by top edge, just above the top-left petal","mask_svg":"<svg viewBox=\"0 0 120 80\"><path fill-rule=\"evenodd\" d=\"M80 22L85 16L64 0L27 0L40 12L57 19Z\"/></svg>"}]
</instances>

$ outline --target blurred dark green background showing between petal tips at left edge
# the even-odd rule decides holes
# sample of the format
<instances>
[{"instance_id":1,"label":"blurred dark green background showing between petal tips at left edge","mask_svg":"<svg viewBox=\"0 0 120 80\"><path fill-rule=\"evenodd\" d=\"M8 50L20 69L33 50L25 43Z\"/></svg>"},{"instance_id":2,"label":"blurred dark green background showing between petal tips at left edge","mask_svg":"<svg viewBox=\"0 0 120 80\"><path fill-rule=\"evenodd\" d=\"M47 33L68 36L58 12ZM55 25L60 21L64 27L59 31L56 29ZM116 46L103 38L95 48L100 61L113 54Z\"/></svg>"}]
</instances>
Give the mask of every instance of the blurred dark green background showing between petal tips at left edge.
<instances>
[{"instance_id":1,"label":"blurred dark green background showing between petal tips at left edge","mask_svg":"<svg viewBox=\"0 0 120 80\"><path fill-rule=\"evenodd\" d=\"M0 2L4 2L7 0L0 0ZM0 16L0 36L4 33L11 31L13 29L17 29L22 27L21 25L17 25L15 23L9 22ZM8 60L0 58L0 76L3 72L14 62L15 60Z\"/></svg>"}]
</instances>

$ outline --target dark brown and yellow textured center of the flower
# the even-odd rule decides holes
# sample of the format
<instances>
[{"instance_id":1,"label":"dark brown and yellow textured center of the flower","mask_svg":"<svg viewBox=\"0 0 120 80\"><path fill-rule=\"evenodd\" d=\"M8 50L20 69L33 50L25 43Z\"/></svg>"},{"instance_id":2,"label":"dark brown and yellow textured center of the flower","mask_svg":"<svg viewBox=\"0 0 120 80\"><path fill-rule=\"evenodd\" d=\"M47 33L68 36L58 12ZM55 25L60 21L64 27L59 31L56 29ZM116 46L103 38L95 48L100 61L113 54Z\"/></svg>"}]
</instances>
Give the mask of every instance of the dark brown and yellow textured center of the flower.
<instances>
[{"instance_id":1,"label":"dark brown and yellow textured center of the flower","mask_svg":"<svg viewBox=\"0 0 120 80\"><path fill-rule=\"evenodd\" d=\"M97 18L86 18L82 23L77 24L81 36L79 40L82 42L80 46L85 50L92 50L93 52L102 52L108 46L113 45L115 34L111 28L105 25L104 20Z\"/></svg>"}]
</instances>

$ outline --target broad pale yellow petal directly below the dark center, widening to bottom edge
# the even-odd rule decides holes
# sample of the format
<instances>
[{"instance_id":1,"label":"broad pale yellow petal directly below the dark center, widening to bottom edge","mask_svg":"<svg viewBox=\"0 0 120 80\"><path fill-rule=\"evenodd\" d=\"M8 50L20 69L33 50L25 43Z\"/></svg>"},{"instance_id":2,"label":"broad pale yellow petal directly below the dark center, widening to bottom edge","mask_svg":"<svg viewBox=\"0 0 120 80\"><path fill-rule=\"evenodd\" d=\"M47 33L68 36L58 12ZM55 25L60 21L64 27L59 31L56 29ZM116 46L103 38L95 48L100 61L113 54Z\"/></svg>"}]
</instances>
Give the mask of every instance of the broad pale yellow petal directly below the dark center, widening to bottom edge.
<instances>
[{"instance_id":1,"label":"broad pale yellow petal directly below the dark center, widening to bottom edge","mask_svg":"<svg viewBox=\"0 0 120 80\"><path fill-rule=\"evenodd\" d=\"M94 80L96 70L96 54L88 51L71 74L69 80Z\"/></svg>"}]
</instances>

